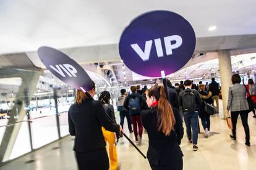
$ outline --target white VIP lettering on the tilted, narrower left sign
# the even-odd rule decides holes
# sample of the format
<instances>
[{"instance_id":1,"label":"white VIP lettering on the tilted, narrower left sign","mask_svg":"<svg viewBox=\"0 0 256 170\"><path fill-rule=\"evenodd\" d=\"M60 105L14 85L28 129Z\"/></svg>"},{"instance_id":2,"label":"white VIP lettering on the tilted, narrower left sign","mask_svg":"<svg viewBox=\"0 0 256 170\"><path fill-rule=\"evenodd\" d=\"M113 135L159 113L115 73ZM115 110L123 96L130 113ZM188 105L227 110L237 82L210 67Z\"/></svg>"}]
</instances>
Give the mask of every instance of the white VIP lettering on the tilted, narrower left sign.
<instances>
[{"instance_id":1,"label":"white VIP lettering on the tilted, narrower left sign","mask_svg":"<svg viewBox=\"0 0 256 170\"><path fill-rule=\"evenodd\" d=\"M59 73L59 75L61 75L62 77L66 78L66 75L64 74L64 72L69 76L69 77L77 77L77 75L75 75L77 73L77 70L75 69L75 67L73 67L70 64L59 64L59 65L55 65L55 67L53 65L49 65L49 67L51 67L54 71L56 71L57 73ZM64 71L64 72L63 72Z\"/></svg>"}]
</instances>

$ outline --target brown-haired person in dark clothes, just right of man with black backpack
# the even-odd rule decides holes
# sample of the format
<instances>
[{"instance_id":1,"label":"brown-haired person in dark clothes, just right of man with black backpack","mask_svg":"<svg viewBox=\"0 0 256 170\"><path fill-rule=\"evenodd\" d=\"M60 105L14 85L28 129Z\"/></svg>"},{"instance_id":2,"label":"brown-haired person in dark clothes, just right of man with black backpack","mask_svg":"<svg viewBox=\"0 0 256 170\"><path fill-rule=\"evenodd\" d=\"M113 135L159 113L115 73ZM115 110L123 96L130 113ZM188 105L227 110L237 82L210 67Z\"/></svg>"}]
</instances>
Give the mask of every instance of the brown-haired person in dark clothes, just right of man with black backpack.
<instances>
[{"instance_id":1,"label":"brown-haired person in dark clothes, just right of man with black backpack","mask_svg":"<svg viewBox=\"0 0 256 170\"><path fill-rule=\"evenodd\" d=\"M200 111L199 111L199 116L201 118L202 121L202 125L203 125L203 129L205 130L205 137L209 137L210 136L210 115L208 115L207 113L205 113L204 107L205 107L205 103L209 103L209 104L213 104L213 99L211 98L211 92L207 92L205 91L205 85L200 84L199 86L199 94L201 99L203 100L203 103L200 107Z\"/></svg>"}]
</instances>

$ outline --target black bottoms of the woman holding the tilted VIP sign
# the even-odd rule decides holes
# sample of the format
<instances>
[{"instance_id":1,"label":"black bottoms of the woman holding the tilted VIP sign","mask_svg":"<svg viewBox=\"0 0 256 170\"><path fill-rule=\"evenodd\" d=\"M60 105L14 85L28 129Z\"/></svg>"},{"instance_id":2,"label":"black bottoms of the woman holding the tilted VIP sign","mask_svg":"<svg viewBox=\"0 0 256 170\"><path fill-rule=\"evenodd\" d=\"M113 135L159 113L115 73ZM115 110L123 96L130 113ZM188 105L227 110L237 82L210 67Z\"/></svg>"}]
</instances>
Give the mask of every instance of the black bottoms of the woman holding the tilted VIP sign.
<instances>
[{"instance_id":1,"label":"black bottoms of the woman holding the tilted VIP sign","mask_svg":"<svg viewBox=\"0 0 256 170\"><path fill-rule=\"evenodd\" d=\"M108 170L109 161L106 148L93 152L75 152L79 170Z\"/></svg>"}]
</instances>

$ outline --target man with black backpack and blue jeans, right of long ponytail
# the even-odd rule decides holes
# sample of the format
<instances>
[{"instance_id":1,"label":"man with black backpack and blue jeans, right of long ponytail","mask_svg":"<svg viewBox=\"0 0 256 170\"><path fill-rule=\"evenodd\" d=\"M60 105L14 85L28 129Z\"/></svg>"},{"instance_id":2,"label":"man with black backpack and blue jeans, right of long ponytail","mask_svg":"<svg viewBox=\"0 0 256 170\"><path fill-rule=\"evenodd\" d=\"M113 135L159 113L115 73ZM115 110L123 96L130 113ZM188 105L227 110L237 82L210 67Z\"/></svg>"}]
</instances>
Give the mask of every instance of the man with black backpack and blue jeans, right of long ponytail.
<instances>
[{"instance_id":1,"label":"man with black backpack and blue jeans, right of long ponytail","mask_svg":"<svg viewBox=\"0 0 256 170\"><path fill-rule=\"evenodd\" d=\"M192 82L189 79L184 82L184 86L185 90L179 93L179 106L182 108L187 127L187 138L193 144L193 150L196 151L198 149L198 106L202 105L202 99L195 89L191 89Z\"/></svg>"}]
</instances>

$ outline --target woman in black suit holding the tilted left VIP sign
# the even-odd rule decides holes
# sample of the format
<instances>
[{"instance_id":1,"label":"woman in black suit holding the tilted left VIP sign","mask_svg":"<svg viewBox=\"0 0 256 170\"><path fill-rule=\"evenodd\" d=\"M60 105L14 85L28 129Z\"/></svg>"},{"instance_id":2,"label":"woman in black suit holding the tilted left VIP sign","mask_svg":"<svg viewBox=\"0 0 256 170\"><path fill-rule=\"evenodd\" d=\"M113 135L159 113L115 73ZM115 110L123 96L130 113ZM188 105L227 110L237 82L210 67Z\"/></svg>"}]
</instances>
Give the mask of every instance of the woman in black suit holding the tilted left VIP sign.
<instances>
[{"instance_id":1,"label":"woman in black suit holding the tilted left VIP sign","mask_svg":"<svg viewBox=\"0 0 256 170\"><path fill-rule=\"evenodd\" d=\"M94 83L88 93L95 95ZM75 136L74 151L79 169L109 169L101 126L111 132L122 132L122 127L109 120L100 101L93 100L80 90L77 91L75 103L69 108L68 116L69 133Z\"/></svg>"}]
</instances>

